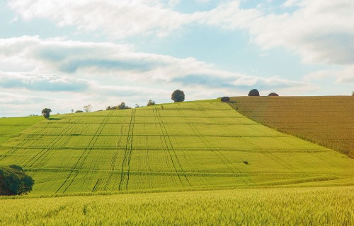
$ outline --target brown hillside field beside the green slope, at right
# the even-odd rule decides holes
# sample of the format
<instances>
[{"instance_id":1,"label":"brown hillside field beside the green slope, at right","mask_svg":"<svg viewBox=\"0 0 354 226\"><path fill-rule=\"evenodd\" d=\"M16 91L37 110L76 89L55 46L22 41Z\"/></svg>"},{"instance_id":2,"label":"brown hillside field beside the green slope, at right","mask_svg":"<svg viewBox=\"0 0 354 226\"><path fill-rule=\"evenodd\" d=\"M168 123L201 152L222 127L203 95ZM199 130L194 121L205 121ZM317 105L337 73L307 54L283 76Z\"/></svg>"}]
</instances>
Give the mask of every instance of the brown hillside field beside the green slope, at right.
<instances>
[{"instance_id":1,"label":"brown hillside field beside the green slope, at right","mask_svg":"<svg viewBox=\"0 0 354 226\"><path fill-rule=\"evenodd\" d=\"M232 97L261 124L354 157L354 97Z\"/></svg>"}]
</instances>

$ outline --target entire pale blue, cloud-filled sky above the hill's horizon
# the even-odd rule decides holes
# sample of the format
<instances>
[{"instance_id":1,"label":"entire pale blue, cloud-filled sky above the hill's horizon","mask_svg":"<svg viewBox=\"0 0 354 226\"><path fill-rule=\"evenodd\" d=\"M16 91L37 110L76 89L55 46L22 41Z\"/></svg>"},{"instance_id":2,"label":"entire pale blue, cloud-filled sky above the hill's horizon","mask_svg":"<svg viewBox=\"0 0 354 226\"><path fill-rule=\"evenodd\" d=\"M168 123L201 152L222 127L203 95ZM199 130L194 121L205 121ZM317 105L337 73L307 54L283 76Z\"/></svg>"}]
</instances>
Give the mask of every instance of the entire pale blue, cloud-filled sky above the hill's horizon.
<instances>
[{"instance_id":1,"label":"entire pale blue, cloud-filled sky above the hill's horizon","mask_svg":"<svg viewBox=\"0 0 354 226\"><path fill-rule=\"evenodd\" d=\"M0 0L0 117L351 95L353 0Z\"/></svg>"}]
</instances>

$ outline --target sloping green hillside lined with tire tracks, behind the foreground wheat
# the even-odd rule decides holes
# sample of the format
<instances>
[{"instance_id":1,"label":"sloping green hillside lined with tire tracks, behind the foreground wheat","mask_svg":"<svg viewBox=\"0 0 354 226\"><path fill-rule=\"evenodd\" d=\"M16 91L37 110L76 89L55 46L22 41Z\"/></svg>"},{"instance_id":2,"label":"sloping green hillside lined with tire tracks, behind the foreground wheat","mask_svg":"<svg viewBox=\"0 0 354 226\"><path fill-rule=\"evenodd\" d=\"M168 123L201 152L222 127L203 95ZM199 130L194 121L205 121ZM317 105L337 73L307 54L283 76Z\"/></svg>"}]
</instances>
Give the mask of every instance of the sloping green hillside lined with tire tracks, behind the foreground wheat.
<instances>
[{"instance_id":1,"label":"sloping green hillside lined with tire tracks, behind the foreground wheat","mask_svg":"<svg viewBox=\"0 0 354 226\"><path fill-rule=\"evenodd\" d=\"M31 194L348 185L353 161L220 102L57 115L0 147Z\"/></svg>"}]
</instances>

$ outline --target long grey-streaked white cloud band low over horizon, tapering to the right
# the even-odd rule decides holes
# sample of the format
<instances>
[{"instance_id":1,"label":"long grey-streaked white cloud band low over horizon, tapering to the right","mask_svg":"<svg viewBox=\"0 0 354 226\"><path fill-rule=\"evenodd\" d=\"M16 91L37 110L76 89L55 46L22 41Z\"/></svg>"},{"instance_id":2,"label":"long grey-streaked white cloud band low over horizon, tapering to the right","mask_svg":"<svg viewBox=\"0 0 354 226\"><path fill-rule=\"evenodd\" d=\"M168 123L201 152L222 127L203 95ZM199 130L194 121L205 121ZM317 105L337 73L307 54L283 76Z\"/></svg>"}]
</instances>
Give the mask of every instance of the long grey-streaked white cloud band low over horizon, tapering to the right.
<instances>
[{"instance_id":1,"label":"long grey-streaked white cloud band low over horizon, tapering to the right","mask_svg":"<svg viewBox=\"0 0 354 226\"><path fill-rule=\"evenodd\" d=\"M253 87L278 90L311 85L278 77L261 78L217 70L197 59L135 52L124 44L74 42L61 38L0 39L0 57L0 62L8 61L14 66L23 62L32 65L27 72L1 73L0 87L38 92L50 90L52 95L61 91L61 96L69 96L68 92L82 93L84 102L96 100L91 104L101 108L107 105L102 100L108 99L138 102L143 97L155 96L160 97L158 101L169 101L171 90L176 88L190 90L189 98L193 100L200 93L208 93L204 98L212 98L234 93L234 90L246 93Z\"/></svg>"}]
</instances>

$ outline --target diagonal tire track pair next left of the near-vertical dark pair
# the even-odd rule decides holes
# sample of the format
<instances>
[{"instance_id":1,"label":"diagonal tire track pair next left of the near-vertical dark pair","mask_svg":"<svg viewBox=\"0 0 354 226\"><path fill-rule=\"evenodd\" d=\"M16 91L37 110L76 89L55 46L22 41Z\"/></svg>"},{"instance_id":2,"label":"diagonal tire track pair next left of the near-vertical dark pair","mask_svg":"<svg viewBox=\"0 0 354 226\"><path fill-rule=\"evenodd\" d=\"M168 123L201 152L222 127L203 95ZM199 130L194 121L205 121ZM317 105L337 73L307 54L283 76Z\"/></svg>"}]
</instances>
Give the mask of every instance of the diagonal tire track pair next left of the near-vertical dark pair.
<instances>
[{"instance_id":1,"label":"diagonal tire track pair next left of the near-vertical dark pair","mask_svg":"<svg viewBox=\"0 0 354 226\"><path fill-rule=\"evenodd\" d=\"M112 114L112 112L110 112L110 114ZM72 178L72 181L69 182L69 184L65 187L63 193L65 193L65 191L67 191L67 189L69 188L69 186L72 185L72 183L74 182L74 180L76 179L77 175L80 172L80 169L82 168L82 166L84 165L84 162L86 160L86 158L89 156L89 154L91 153L91 150L93 150L93 146L95 145L96 141L98 140L99 135L102 133L103 127L105 125L105 122L108 121L108 114L105 119L103 119L101 125L98 127L95 135L92 137L91 141L89 142L89 145L87 145L86 150L84 150L82 152L82 154L79 157L79 160L77 160L76 164L74 165L74 167L72 168L72 171L69 173L69 176L67 177L67 179L65 179L64 183L59 186L59 188L57 189L57 191L55 191L55 193L58 193L60 189L62 189L62 187L64 187L64 184L67 184L67 182L69 181L70 177ZM86 155L85 155L86 154ZM81 162L81 165L79 165L79 163Z\"/></svg>"}]
</instances>

